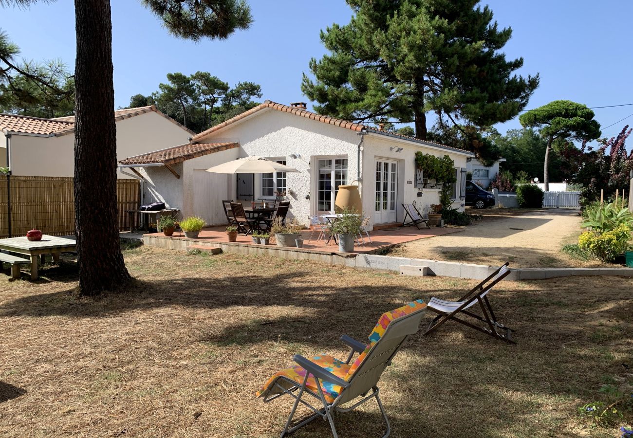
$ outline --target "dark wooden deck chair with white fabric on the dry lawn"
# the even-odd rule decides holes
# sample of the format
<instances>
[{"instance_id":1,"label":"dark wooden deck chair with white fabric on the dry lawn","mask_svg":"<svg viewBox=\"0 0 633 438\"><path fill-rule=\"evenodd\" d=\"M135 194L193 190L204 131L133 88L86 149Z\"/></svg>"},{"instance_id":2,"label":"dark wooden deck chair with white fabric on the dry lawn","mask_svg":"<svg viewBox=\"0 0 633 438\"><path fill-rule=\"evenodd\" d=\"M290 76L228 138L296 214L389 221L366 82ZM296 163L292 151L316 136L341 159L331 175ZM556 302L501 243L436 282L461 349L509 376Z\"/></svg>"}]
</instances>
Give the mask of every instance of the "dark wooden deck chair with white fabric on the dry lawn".
<instances>
[{"instance_id":1,"label":"dark wooden deck chair with white fabric on the dry lawn","mask_svg":"<svg viewBox=\"0 0 633 438\"><path fill-rule=\"evenodd\" d=\"M472 329L491 335L496 339L501 339L501 341L516 344L516 342L512 340L512 332L515 330L512 330L497 321L497 317L494 315L494 311L492 311L492 306L490 305L490 301L488 301L487 297L488 292L491 291L494 285L510 275L508 265L510 265L510 263L506 262L504 265L499 267L498 270L489 275L489 277L480 282L480 284L473 287L470 292L458 299L458 301L444 301L443 299L432 297L429 300L427 307L429 310L434 311L438 315L429 323L429 327L427 328L427 331L424 332L423 336L429 334L433 330L436 330L446 321L454 320L463 325L467 325ZM475 303L479 303L482 314L484 315L483 317L468 311L468 309L475 305ZM485 322L487 323L487 327L477 327L473 323L461 320L456 316L458 313L463 313L464 315L471 316L472 318ZM499 333L499 330L504 333Z\"/></svg>"}]
</instances>

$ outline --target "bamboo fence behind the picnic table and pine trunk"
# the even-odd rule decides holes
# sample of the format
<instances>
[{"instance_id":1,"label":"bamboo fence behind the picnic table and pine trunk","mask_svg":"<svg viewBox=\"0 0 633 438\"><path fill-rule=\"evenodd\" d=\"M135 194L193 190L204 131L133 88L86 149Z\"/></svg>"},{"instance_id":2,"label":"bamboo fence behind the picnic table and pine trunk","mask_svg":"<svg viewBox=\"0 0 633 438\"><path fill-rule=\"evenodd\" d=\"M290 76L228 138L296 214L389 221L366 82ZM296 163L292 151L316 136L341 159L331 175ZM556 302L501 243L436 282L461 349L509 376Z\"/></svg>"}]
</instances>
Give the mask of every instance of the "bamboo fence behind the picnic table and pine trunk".
<instances>
[{"instance_id":1,"label":"bamboo fence behind the picnic table and pine trunk","mask_svg":"<svg viewBox=\"0 0 633 438\"><path fill-rule=\"evenodd\" d=\"M9 197L11 188L11 235L25 235L37 228L49 235L75 234L73 178L0 176L0 237L9 235ZM95 196L99 196L98 193ZM120 230L130 227L126 210L141 205L138 180L116 180L116 204Z\"/></svg>"}]
</instances>

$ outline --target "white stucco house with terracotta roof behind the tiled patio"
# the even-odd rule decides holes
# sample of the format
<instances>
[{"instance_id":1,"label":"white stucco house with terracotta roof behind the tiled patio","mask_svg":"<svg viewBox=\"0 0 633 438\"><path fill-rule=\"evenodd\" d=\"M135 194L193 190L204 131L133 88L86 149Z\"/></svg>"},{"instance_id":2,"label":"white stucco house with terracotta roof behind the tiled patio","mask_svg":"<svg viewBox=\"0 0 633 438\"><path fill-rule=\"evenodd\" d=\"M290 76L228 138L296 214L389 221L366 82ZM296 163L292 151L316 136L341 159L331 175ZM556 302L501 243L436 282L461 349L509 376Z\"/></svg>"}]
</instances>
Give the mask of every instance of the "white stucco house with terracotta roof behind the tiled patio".
<instances>
[{"instance_id":1,"label":"white stucco house with terracotta roof behind the tiled patio","mask_svg":"<svg viewBox=\"0 0 633 438\"><path fill-rule=\"evenodd\" d=\"M145 202L163 201L182 215L202 216L209 225L226 222L223 199L274 199L284 193L291 213L301 222L309 215L334 210L337 187L358 184L363 213L372 225L403 220L401 203L439 203L439 189L423 188L415 153L454 161L458 182L454 206L463 209L466 161L470 152L367 125L306 111L304 103L286 106L271 101L220 123L191 142L120 161L144 179ZM299 173L223 175L211 166L246 156L265 156ZM432 182L430 184L433 185Z\"/></svg>"}]
</instances>

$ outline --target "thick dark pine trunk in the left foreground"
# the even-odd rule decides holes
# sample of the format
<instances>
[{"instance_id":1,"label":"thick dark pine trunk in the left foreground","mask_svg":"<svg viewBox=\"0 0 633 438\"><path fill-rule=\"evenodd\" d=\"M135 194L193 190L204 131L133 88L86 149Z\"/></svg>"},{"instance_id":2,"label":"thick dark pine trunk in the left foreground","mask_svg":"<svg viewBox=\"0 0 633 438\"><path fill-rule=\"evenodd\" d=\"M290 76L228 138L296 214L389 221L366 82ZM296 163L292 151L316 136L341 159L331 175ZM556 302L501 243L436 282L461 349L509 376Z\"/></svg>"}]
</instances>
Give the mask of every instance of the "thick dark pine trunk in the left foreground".
<instances>
[{"instance_id":1,"label":"thick dark pine trunk in the left foreground","mask_svg":"<svg viewBox=\"0 0 633 438\"><path fill-rule=\"evenodd\" d=\"M75 0L75 228L79 288L130 280L119 246L110 0Z\"/></svg>"}]
</instances>

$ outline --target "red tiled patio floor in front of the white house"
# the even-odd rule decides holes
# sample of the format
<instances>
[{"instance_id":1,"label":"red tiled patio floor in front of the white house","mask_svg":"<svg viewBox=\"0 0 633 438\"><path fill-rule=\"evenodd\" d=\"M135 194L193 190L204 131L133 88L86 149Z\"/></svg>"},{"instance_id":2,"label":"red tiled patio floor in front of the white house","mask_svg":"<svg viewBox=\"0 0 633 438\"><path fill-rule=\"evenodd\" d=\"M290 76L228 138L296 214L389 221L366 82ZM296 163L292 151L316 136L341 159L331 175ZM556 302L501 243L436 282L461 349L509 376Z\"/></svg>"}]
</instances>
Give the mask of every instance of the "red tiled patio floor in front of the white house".
<instances>
[{"instance_id":1,"label":"red tiled patio floor in front of the white house","mask_svg":"<svg viewBox=\"0 0 633 438\"><path fill-rule=\"evenodd\" d=\"M224 243L229 242L229 237L225 232L225 226L220 227L208 227L204 228L197 239L189 239L190 241L197 241L200 243ZM425 237L433 237L435 235L443 235L454 233L463 230L463 228L424 228L422 230L418 230L415 227L394 227L394 228L386 228L384 230L370 231L369 235L372 237L372 243L370 243L365 236L366 244L355 244L354 245L354 253L377 253L382 249L387 247L394 246L396 244L411 242L417 239L424 239ZM339 251L339 247L334 243L334 239L330 241L329 245L326 245L324 241L316 241L316 237L318 236L318 232L314 232L313 239L311 242L308 242L312 231L311 230L303 230L301 234L303 235L303 249L308 251L313 251L315 253L335 253ZM165 237L163 233L153 233L149 234L155 237ZM172 237L166 237L166 239L186 239L184 233L179 236L177 232L173 234ZM253 245L253 241L251 236L245 235L237 235L237 244L249 244ZM268 245L275 246L275 244Z\"/></svg>"}]
</instances>

